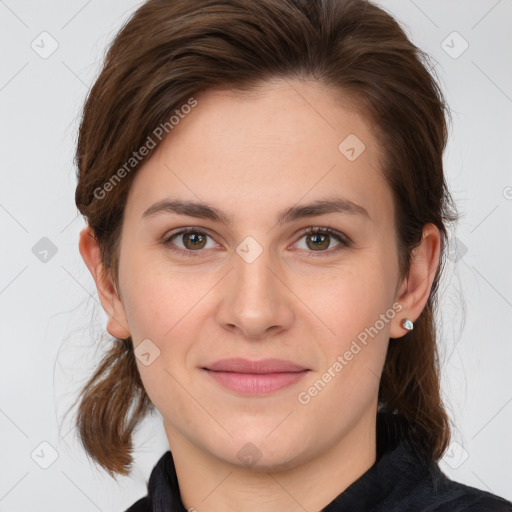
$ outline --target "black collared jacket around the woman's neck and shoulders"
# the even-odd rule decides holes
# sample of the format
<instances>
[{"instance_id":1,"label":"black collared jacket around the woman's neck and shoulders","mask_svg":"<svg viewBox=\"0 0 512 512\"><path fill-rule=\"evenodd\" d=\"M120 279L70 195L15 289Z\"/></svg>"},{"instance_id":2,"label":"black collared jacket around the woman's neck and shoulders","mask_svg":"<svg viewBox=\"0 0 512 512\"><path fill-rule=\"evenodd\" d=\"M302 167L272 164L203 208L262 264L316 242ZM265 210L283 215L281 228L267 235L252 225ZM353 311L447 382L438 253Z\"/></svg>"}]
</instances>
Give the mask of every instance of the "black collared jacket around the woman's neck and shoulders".
<instances>
[{"instance_id":1,"label":"black collared jacket around the woman's neck and shoulders","mask_svg":"<svg viewBox=\"0 0 512 512\"><path fill-rule=\"evenodd\" d=\"M420 455L401 415L377 414L377 460L322 512L512 512L512 503L450 480ZM170 451L158 461L148 495L126 512L187 512Z\"/></svg>"}]
</instances>

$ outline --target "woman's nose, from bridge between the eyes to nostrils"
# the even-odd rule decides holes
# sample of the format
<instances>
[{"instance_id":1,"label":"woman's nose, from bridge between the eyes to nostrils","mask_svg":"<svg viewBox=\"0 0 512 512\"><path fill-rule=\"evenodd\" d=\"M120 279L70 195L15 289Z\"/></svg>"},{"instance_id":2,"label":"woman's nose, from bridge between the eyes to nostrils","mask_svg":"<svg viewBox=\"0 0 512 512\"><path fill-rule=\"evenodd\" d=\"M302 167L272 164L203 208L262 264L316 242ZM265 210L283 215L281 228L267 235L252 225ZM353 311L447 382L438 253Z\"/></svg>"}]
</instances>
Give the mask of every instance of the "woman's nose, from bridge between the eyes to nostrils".
<instances>
[{"instance_id":1,"label":"woman's nose, from bridge between the eyes to nostrils","mask_svg":"<svg viewBox=\"0 0 512 512\"><path fill-rule=\"evenodd\" d=\"M294 319L293 293L283 269L263 251L248 262L233 256L226 276L217 321L224 329L252 340L265 339L290 328Z\"/></svg>"}]
</instances>

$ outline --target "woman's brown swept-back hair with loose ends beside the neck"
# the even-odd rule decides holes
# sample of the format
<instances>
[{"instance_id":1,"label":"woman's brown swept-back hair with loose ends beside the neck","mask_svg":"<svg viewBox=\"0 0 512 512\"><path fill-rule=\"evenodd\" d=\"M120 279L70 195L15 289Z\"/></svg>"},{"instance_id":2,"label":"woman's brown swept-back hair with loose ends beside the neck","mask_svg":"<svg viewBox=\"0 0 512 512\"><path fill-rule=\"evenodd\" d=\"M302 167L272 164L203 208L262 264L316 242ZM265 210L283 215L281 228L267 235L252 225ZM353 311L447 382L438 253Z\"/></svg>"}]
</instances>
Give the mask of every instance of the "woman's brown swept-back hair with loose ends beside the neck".
<instances>
[{"instance_id":1,"label":"woman's brown swept-back hair with loose ends beside the neck","mask_svg":"<svg viewBox=\"0 0 512 512\"><path fill-rule=\"evenodd\" d=\"M442 162L449 112L433 74L397 21L366 0L147 1L109 48L79 130L75 200L106 271L116 283L123 211L139 165L115 183L113 176L148 137L158 145L155 128L169 126L201 91L298 78L351 98L376 127L395 199L400 271L407 275L423 226L439 228L444 248L446 224L456 219ZM109 180L115 186L103 199ZM403 413L418 448L433 460L450 438L434 323L443 261L444 251L414 330L389 344L379 389L381 409ZM79 398L76 425L86 452L109 474L129 474L132 432L154 408L130 338L116 340Z\"/></svg>"}]
</instances>

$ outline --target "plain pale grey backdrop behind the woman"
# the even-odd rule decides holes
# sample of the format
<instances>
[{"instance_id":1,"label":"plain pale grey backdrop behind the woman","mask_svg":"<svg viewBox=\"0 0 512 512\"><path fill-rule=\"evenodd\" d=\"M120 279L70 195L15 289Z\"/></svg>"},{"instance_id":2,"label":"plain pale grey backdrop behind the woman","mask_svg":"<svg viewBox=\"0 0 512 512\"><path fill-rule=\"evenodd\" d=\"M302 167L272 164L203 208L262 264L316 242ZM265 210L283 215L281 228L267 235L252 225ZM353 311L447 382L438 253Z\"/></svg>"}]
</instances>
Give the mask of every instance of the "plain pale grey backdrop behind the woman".
<instances>
[{"instance_id":1,"label":"plain pale grey backdrop behind the woman","mask_svg":"<svg viewBox=\"0 0 512 512\"><path fill-rule=\"evenodd\" d=\"M440 349L456 428L441 468L512 499L512 1L380 4L430 54L453 113L445 164L462 219L441 285ZM125 510L168 449L160 416L149 417L131 476L116 481L64 415L108 340L78 252L80 110L138 5L0 0L1 511Z\"/></svg>"}]
</instances>

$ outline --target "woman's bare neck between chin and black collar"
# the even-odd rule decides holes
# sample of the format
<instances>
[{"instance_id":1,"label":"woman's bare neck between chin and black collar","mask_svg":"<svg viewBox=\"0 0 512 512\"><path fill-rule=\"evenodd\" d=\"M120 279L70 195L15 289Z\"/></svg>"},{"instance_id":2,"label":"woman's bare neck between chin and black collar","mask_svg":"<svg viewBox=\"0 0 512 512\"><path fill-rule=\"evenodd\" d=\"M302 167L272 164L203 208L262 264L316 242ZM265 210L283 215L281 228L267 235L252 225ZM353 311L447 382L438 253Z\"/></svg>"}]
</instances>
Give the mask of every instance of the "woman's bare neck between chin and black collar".
<instances>
[{"instance_id":1,"label":"woman's bare neck between chin and black collar","mask_svg":"<svg viewBox=\"0 0 512 512\"><path fill-rule=\"evenodd\" d=\"M371 408L328 450L281 471L227 463L166 424L181 501L187 510L209 512L319 511L375 462L375 420Z\"/></svg>"}]
</instances>

